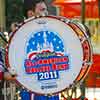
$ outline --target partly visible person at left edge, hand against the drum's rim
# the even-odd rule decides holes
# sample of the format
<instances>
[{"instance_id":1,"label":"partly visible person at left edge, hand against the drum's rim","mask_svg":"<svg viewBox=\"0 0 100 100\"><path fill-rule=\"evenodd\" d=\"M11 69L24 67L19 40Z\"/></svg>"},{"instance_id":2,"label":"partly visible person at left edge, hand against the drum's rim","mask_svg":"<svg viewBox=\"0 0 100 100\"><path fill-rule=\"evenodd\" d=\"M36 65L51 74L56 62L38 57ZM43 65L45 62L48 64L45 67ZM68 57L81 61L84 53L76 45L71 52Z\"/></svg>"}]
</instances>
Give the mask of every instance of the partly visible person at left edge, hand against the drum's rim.
<instances>
[{"instance_id":1,"label":"partly visible person at left edge, hand against the drum's rim","mask_svg":"<svg viewBox=\"0 0 100 100\"><path fill-rule=\"evenodd\" d=\"M4 43L3 43L4 41ZM0 30L0 100L4 100L4 80L13 81L15 80L15 75L10 73L10 69L7 69L5 66L5 47L7 44L7 38L5 37L4 32Z\"/></svg>"}]
</instances>

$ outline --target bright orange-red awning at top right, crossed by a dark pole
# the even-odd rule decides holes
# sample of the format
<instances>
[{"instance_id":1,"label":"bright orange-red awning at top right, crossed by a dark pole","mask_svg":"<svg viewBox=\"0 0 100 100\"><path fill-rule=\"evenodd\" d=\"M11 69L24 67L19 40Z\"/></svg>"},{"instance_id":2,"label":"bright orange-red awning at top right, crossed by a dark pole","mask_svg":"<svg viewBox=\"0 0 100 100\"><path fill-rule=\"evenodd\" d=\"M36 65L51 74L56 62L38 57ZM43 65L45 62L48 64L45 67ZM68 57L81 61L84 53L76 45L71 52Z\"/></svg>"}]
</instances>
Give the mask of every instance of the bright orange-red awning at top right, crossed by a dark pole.
<instances>
[{"instance_id":1,"label":"bright orange-red awning at top right, crossed by a dark pole","mask_svg":"<svg viewBox=\"0 0 100 100\"><path fill-rule=\"evenodd\" d=\"M61 16L65 16L68 18L75 18L81 16L81 0L55 0L53 4L61 8ZM98 18L98 1L85 0L85 4L85 17Z\"/></svg>"}]
</instances>

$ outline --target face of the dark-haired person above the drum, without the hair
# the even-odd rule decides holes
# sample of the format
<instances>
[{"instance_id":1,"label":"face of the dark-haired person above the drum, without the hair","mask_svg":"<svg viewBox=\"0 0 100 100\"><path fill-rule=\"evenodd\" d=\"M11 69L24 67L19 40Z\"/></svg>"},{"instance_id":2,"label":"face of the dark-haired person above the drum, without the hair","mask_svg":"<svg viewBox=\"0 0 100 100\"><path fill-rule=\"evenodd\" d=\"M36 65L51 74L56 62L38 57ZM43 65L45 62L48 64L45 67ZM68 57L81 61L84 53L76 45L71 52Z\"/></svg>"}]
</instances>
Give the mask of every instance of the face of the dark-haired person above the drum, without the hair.
<instances>
[{"instance_id":1,"label":"face of the dark-haired person above the drum, without the hair","mask_svg":"<svg viewBox=\"0 0 100 100\"><path fill-rule=\"evenodd\" d=\"M36 4L35 15L48 15L47 6L44 2Z\"/></svg>"}]
</instances>

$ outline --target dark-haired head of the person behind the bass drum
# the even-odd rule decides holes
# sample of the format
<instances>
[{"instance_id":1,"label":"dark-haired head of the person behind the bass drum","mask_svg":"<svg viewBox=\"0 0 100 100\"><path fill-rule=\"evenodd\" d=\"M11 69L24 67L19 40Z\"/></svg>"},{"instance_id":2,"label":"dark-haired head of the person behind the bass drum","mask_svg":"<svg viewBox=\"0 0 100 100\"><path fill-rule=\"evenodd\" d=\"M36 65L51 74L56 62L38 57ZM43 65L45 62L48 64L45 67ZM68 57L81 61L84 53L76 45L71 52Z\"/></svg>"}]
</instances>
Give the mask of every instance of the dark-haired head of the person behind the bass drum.
<instances>
[{"instance_id":1,"label":"dark-haired head of the person behind the bass drum","mask_svg":"<svg viewBox=\"0 0 100 100\"><path fill-rule=\"evenodd\" d=\"M24 2L25 15L27 18L48 15L48 8L45 0L24 0Z\"/></svg>"}]
</instances>

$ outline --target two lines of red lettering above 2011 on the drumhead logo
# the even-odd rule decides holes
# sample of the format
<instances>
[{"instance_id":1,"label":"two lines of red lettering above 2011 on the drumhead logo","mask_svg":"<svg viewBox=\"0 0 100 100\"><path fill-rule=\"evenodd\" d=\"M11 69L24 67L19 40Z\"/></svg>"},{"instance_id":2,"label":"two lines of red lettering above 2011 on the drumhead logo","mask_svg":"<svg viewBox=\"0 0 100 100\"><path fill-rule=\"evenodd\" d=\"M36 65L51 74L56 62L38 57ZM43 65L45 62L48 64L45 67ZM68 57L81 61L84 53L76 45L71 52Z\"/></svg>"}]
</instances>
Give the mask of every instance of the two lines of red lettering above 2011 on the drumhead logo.
<instances>
[{"instance_id":1,"label":"two lines of red lettering above 2011 on the drumhead logo","mask_svg":"<svg viewBox=\"0 0 100 100\"><path fill-rule=\"evenodd\" d=\"M88 52L84 52L85 54ZM86 57L86 55L85 55ZM50 59L40 59L37 62L32 62L30 60L27 60L25 62L26 65L26 72L27 73L37 73L37 72L47 72L50 70L66 70L69 68L68 64L60 64L58 65L58 63L60 62L68 62L69 59L68 57L59 57L59 58L50 58ZM50 67L50 65L46 66L46 64L52 64L52 68ZM37 68L34 68L35 66L39 66ZM29 68L32 67L32 68Z\"/></svg>"}]
</instances>

